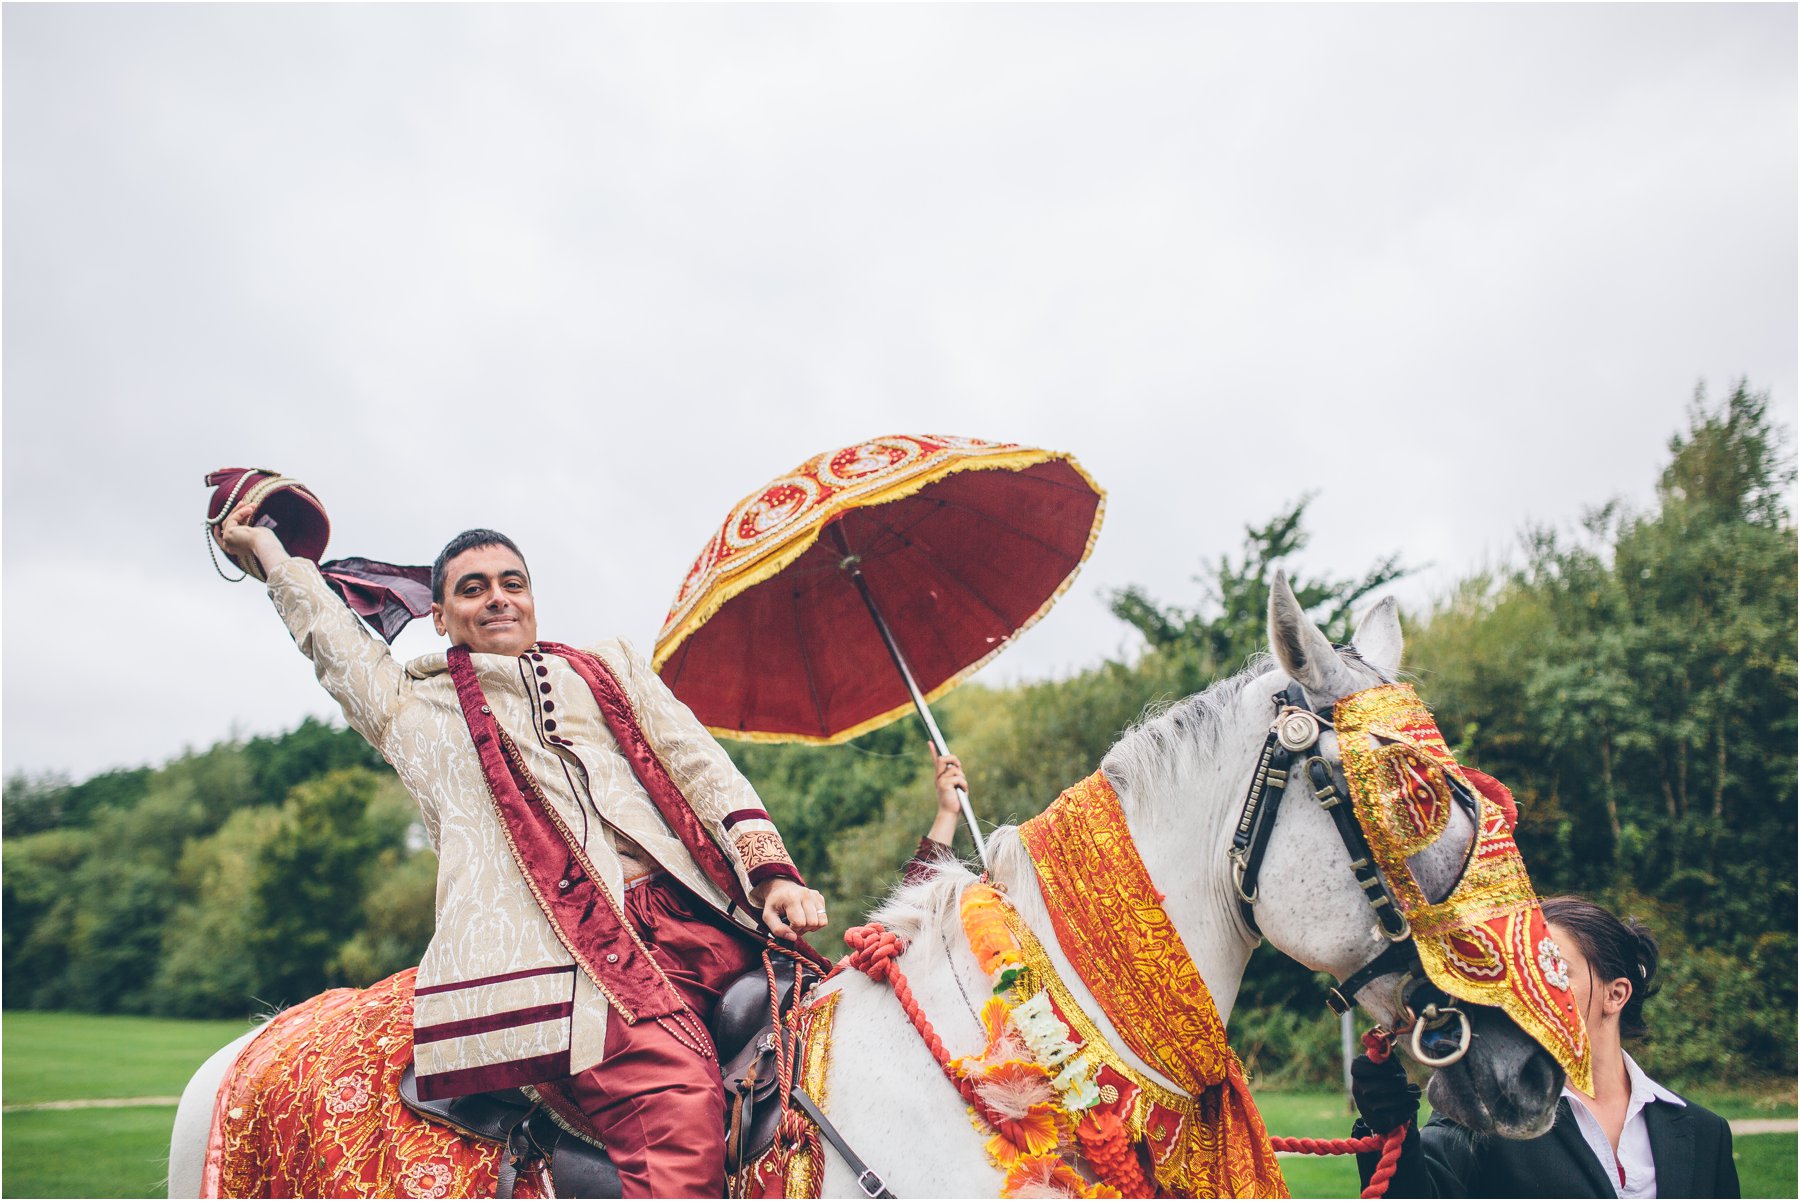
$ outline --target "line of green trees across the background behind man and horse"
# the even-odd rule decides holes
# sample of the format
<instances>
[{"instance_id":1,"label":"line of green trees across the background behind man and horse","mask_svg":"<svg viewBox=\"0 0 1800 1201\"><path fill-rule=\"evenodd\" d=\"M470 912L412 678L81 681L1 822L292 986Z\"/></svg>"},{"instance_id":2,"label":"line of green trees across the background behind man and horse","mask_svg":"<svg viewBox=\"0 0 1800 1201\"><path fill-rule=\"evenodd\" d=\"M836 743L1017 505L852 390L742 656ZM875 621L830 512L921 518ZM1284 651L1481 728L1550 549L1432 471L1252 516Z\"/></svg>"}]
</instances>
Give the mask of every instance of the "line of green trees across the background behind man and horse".
<instances>
[{"instance_id":1,"label":"line of green trees across the background behind man and horse","mask_svg":"<svg viewBox=\"0 0 1800 1201\"><path fill-rule=\"evenodd\" d=\"M1516 562L1408 619L1408 672L1456 754L1519 799L1541 893L1643 917L1665 945L1652 1073L1795 1071L1793 461L1768 398L1697 396L1656 499L1526 529ZM1147 648L1067 679L970 684L940 708L986 821L1039 812L1147 704L1265 648L1283 567L1336 639L1406 574L1314 576L1303 497L1206 564L1190 607L1141 589L1112 612ZM837 924L898 879L932 814L914 720L842 747L727 744ZM9 1008L238 1017L418 962L436 857L410 799L355 733L306 720L162 767L4 789ZM959 850L968 852L967 834ZM1253 956L1233 1043L1264 1082L1330 1079L1319 981Z\"/></svg>"}]
</instances>

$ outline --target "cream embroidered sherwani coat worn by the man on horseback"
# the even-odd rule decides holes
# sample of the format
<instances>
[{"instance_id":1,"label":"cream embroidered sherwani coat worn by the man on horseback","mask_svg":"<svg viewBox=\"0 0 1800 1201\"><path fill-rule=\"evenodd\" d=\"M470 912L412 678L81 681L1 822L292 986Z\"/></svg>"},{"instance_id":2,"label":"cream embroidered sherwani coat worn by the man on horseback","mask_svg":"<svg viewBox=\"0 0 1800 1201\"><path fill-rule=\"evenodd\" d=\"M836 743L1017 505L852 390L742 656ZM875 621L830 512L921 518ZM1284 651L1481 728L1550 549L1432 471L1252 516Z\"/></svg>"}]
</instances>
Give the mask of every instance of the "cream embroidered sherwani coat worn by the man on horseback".
<instances>
[{"instance_id":1,"label":"cream embroidered sherwani coat worn by the man on horseback","mask_svg":"<svg viewBox=\"0 0 1800 1201\"><path fill-rule=\"evenodd\" d=\"M549 1080L598 1064L605 980L578 971L513 859L445 654L398 663L310 560L277 565L268 592L351 727L394 765L437 848L437 931L419 963L414 1010L419 1075L439 1077L434 1091L454 1095L517 1082L508 1077L522 1070ZM743 891L770 870L790 873L751 783L650 664L617 639L585 650L617 677L650 747L725 850ZM596 884L623 898L628 864L610 826L707 904L756 929L670 830L567 661L477 654L472 664L493 717L580 839Z\"/></svg>"}]
</instances>

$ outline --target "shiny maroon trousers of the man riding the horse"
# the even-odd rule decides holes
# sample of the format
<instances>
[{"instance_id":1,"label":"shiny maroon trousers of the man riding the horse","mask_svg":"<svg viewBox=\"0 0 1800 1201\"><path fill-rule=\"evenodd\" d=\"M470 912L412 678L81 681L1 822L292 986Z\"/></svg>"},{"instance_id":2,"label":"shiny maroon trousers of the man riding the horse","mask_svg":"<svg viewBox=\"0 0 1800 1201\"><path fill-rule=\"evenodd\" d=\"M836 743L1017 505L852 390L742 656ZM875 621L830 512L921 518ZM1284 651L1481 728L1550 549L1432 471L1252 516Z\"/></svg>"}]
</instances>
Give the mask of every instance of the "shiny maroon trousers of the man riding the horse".
<instances>
[{"instance_id":1,"label":"shiny maroon trousers of the man riding the horse","mask_svg":"<svg viewBox=\"0 0 1800 1201\"><path fill-rule=\"evenodd\" d=\"M761 963L761 947L670 875L625 889L625 918L688 1012L635 1026L610 1014L605 1059L569 1077L569 1095L607 1143L626 1197L724 1197L725 1086L706 1026L725 987Z\"/></svg>"}]
</instances>

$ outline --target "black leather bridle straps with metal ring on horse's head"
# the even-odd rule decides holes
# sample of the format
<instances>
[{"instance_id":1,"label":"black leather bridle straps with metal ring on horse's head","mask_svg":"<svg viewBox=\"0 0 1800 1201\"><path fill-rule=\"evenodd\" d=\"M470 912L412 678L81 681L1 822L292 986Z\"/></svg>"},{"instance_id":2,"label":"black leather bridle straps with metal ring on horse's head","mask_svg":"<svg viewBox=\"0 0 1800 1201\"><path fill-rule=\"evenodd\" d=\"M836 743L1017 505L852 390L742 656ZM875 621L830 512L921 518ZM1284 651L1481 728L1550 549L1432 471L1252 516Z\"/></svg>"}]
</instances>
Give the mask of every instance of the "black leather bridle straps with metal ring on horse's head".
<instances>
[{"instance_id":1,"label":"black leather bridle straps with metal ring on horse's head","mask_svg":"<svg viewBox=\"0 0 1800 1201\"><path fill-rule=\"evenodd\" d=\"M1429 1068L1444 1068L1469 1052L1469 1016L1426 976L1424 965L1418 960L1418 949L1411 942L1413 927L1406 920L1406 915L1400 913L1393 889L1375 864L1368 837L1363 834L1363 826L1357 823L1355 812L1348 803L1348 781L1339 765L1318 753L1319 736L1330 726L1332 706L1312 708L1307 700L1307 691L1298 682L1291 682L1274 693L1274 720L1269 724L1269 735L1262 742L1262 754L1256 758L1249 794L1244 798L1244 812L1238 816L1237 830L1231 834L1231 850L1226 852L1231 859L1238 909L1251 935L1262 938L1262 927L1256 926L1255 913L1258 895L1256 879L1262 873L1262 859L1269 850L1269 837L1274 834L1282 798L1287 794L1287 785L1298 771L1310 785L1312 799L1332 816L1337 837L1343 839L1345 850L1350 852L1350 870L1363 889L1363 898L1375 911L1375 922L1390 942L1381 954L1352 972L1336 989L1328 989L1325 1003L1336 1014L1348 1014L1355 1005L1355 994L1370 981L1391 972L1404 972L1400 998L1402 1007L1411 1017L1406 1028L1413 1035L1413 1059ZM1467 862L1463 870L1467 870ZM1427 1050L1424 1037L1444 1030L1451 1021L1460 1021L1454 1046L1445 1053Z\"/></svg>"}]
</instances>

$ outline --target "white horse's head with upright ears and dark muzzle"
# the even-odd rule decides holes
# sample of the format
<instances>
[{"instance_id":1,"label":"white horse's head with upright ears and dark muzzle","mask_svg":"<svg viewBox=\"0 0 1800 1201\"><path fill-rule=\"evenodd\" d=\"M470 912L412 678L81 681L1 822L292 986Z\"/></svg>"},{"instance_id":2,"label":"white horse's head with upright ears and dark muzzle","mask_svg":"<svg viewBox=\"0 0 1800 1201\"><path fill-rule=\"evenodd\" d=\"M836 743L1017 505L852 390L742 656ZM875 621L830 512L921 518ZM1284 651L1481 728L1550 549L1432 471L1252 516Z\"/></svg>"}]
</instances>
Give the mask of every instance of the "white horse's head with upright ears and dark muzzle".
<instances>
[{"instance_id":1,"label":"white horse's head with upright ears and dark muzzle","mask_svg":"<svg viewBox=\"0 0 1800 1201\"><path fill-rule=\"evenodd\" d=\"M1427 834L1435 837L1409 843L1404 859L1395 857L1384 841L1386 855L1372 853L1354 816L1341 738L1363 740L1350 747L1352 754L1364 745L1379 751L1382 740L1363 729L1341 735L1332 717L1346 697L1370 697L1368 690L1395 681L1400 623L1393 601L1375 605L1357 627L1352 645L1337 648L1305 616L1287 580L1276 576L1269 643L1282 670L1244 688L1238 704L1256 709L1246 713L1246 720L1260 717L1264 727L1271 727L1283 704L1291 706L1292 726L1283 729L1276 722L1267 740L1276 763L1271 783L1276 787L1262 787L1264 796L1280 799L1280 771L1287 771L1285 801L1278 808L1267 807L1273 812L1262 816L1269 830L1262 837L1255 837L1244 823L1231 830L1240 882L1249 868L1242 891L1255 897L1255 904L1240 906L1246 926L1260 927L1271 944L1307 967L1330 972L1341 981L1341 992L1354 996L1390 1030L1415 1028L1418 1037L1400 1043L1415 1057L1438 1066L1431 1080L1431 1104L1438 1111L1481 1133L1510 1138L1541 1134L1555 1118L1562 1089L1564 1071L1557 1059L1501 1008L1458 1001L1436 990L1420 969L1406 918L1406 911L1420 911L1418 906L1442 906L1453 900L1453 893L1462 897L1465 889L1460 882L1476 859L1478 823L1492 826L1492 807L1483 810L1469 794L1467 778L1453 778L1462 776L1460 771L1422 780L1424 803L1431 807L1436 801L1427 823ZM1318 715L1316 724L1309 727L1294 709ZM1413 771L1431 774L1429 760L1415 763L1422 769ZM1435 790L1426 787L1433 781ZM1247 810L1253 808L1247 805ZM1262 843L1260 850L1256 843ZM1388 859L1386 871L1382 859ZM1406 875L1411 879L1390 879ZM1404 898L1411 904L1400 904L1399 889L1409 889ZM1526 954L1543 953L1528 949ZM1496 962L1505 978L1505 954ZM1431 1019L1440 1012L1442 1025L1433 1028ZM1418 1014L1426 1019L1420 1021ZM1467 1026L1462 1016L1467 1016Z\"/></svg>"}]
</instances>

